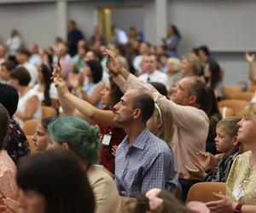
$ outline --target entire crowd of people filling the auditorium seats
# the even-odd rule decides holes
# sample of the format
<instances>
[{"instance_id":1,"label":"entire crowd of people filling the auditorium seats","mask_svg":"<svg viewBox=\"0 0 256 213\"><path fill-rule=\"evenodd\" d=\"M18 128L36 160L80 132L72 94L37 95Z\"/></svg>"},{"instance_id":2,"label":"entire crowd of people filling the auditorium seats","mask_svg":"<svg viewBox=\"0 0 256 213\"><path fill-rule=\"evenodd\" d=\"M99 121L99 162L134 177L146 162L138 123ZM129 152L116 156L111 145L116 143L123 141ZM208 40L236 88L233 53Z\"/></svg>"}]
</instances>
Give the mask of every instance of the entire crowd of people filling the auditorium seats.
<instances>
[{"instance_id":1,"label":"entire crowd of people filling the auditorium seats","mask_svg":"<svg viewBox=\"0 0 256 213\"><path fill-rule=\"evenodd\" d=\"M174 25L159 46L133 26L110 42L70 20L53 47L25 49L17 30L0 44L0 212L255 212L256 105L222 118L224 71L207 46L180 57ZM226 193L186 204L201 181Z\"/></svg>"}]
</instances>

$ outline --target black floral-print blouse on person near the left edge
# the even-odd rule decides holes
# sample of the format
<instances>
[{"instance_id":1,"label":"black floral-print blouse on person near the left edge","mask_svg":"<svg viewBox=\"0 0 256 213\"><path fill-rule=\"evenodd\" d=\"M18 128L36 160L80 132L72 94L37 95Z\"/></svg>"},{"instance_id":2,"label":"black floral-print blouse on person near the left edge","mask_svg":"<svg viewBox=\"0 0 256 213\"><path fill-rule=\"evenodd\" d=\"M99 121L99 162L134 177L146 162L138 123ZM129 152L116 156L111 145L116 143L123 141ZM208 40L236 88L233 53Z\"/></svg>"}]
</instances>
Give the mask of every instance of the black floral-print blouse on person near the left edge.
<instances>
[{"instance_id":1,"label":"black floral-print blouse on person near the left edge","mask_svg":"<svg viewBox=\"0 0 256 213\"><path fill-rule=\"evenodd\" d=\"M15 164L18 163L21 157L30 154L30 147L26 140L26 135L20 129L19 124L11 118L9 125L9 135L5 138L5 150L9 157L13 159Z\"/></svg>"}]
</instances>

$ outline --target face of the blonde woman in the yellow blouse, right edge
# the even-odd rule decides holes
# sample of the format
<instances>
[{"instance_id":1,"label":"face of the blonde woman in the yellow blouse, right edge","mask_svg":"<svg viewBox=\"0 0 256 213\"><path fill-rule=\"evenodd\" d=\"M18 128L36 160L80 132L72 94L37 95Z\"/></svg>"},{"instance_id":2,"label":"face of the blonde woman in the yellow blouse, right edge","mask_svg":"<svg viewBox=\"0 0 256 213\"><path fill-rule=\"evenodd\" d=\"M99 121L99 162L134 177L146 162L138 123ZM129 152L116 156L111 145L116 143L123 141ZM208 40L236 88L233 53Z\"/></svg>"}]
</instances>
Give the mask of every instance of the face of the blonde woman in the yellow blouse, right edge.
<instances>
[{"instance_id":1,"label":"face of the blonde woman in the yellow blouse, right edge","mask_svg":"<svg viewBox=\"0 0 256 213\"><path fill-rule=\"evenodd\" d=\"M250 113L250 116L245 115L244 118L238 122L237 139L241 143L250 144L256 142L256 115Z\"/></svg>"}]
</instances>

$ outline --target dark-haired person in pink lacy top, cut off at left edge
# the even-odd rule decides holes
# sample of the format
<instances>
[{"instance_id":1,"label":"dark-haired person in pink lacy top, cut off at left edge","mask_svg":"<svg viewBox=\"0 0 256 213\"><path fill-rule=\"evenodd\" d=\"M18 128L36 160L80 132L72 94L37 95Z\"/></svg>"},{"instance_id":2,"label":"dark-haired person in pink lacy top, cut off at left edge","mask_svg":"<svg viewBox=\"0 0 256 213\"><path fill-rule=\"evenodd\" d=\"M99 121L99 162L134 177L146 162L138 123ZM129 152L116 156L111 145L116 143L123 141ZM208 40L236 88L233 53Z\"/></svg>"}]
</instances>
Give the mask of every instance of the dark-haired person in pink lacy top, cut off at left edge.
<instances>
[{"instance_id":1,"label":"dark-haired person in pink lacy top, cut off at left edge","mask_svg":"<svg viewBox=\"0 0 256 213\"><path fill-rule=\"evenodd\" d=\"M9 130L9 112L0 104L0 204L5 198L17 199L15 183L16 166L4 148L4 138ZM3 212L0 210L0 212Z\"/></svg>"}]
</instances>

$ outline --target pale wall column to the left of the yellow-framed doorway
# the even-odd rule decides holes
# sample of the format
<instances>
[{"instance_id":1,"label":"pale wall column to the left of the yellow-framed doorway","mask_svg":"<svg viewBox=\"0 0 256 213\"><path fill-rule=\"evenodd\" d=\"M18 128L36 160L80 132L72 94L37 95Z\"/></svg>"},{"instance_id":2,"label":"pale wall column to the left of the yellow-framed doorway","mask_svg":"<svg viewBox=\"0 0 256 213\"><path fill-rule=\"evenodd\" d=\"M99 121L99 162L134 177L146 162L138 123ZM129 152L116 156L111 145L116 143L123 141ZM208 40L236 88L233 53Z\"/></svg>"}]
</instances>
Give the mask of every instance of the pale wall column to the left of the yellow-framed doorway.
<instances>
[{"instance_id":1,"label":"pale wall column to the left of the yellow-framed doorway","mask_svg":"<svg viewBox=\"0 0 256 213\"><path fill-rule=\"evenodd\" d=\"M56 1L56 34L67 39L67 2L65 0Z\"/></svg>"}]
</instances>

